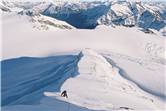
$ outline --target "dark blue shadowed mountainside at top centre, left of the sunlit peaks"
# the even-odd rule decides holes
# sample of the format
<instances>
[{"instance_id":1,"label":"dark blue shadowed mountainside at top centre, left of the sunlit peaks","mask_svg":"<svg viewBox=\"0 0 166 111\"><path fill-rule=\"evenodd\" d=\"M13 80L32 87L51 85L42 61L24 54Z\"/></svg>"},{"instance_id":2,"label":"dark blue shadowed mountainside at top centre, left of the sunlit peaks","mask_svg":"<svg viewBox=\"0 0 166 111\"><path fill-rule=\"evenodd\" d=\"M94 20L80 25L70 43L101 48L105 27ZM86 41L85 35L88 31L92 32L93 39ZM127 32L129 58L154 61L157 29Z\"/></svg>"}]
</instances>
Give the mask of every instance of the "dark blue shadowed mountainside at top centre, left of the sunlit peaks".
<instances>
[{"instance_id":1,"label":"dark blue shadowed mountainside at top centre, left of the sunlit peaks","mask_svg":"<svg viewBox=\"0 0 166 111\"><path fill-rule=\"evenodd\" d=\"M73 10L72 7L64 7L59 9L58 6L53 6L53 12L51 12L51 7L47 8L42 14L46 16L51 16L53 18L66 21L67 23L73 25L80 29L93 29L97 26L97 20L103 14L107 13L109 7L106 5L98 5L87 9Z\"/></svg>"}]
</instances>

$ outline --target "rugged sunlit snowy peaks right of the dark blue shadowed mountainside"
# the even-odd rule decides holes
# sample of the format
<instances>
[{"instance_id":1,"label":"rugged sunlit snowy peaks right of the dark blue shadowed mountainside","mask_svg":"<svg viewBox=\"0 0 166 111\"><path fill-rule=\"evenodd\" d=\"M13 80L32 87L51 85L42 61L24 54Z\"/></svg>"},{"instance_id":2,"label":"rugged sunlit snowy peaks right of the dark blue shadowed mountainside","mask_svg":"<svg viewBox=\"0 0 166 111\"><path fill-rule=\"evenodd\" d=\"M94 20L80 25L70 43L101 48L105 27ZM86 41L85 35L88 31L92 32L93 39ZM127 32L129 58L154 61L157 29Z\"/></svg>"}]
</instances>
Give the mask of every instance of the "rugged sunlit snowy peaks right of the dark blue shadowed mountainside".
<instances>
[{"instance_id":1,"label":"rugged sunlit snowy peaks right of the dark blue shadowed mountainside","mask_svg":"<svg viewBox=\"0 0 166 111\"><path fill-rule=\"evenodd\" d=\"M107 14L99 19L106 25L116 24L125 26L138 26L144 29L160 30L165 27L166 4L146 2L112 2Z\"/></svg>"}]
</instances>

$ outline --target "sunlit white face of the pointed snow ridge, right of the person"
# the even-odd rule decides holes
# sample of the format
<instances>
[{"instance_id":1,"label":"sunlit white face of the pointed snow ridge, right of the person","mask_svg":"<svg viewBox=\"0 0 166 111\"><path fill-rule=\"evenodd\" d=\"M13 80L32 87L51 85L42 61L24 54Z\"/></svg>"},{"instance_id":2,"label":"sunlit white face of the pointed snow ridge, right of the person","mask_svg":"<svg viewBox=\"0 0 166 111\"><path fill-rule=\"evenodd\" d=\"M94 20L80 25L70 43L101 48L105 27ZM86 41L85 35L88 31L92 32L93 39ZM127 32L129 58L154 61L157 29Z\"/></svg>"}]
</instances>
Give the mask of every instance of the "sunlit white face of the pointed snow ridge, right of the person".
<instances>
[{"instance_id":1,"label":"sunlit white face of the pointed snow ridge, right of the person","mask_svg":"<svg viewBox=\"0 0 166 111\"><path fill-rule=\"evenodd\" d=\"M152 102L151 96L123 79L119 69L109 64L104 57L88 49L82 54L78 63L80 74L76 78L68 79L61 88L68 91L70 101L96 110L120 107L135 110L157 108L157 103Z\"/></svg>"}]
</instances>

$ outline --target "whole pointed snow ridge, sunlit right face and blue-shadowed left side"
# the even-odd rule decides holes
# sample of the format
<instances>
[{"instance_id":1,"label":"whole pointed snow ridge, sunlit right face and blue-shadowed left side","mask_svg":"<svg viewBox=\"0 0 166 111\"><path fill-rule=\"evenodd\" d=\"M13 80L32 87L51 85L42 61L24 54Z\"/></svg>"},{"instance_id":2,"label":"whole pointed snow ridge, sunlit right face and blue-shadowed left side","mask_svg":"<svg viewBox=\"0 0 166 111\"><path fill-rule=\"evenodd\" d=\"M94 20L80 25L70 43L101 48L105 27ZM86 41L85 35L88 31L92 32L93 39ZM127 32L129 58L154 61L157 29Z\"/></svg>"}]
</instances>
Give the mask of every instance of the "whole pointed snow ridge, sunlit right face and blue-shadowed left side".
<instances>
[{"instance_id":1,"label":"whole pointed snow ridge, sunlit right face and blue-shadowed left side","mask_svg":"<svg viewBox=\"0 0 166 111\"><path fill-rule=\"evenodd\" d=\"M63 59L63 62L61 59ZM73 63L73 61L75 62ZM41 111L53 111L53 109L61 111L114 111L163 108L162 101L125 80L120 76L118 67L108 63L103 56L91 49L85 49L75 57L6 60L2 63L2 69L15 64L18 65L18 62L19 65L22 65L22 68L28 67L27 70L15 73L15 71L18 71L17 68L17 70L12 69L2 73L2 84L5 84L3 85L5 87L2 87L2 103L5 105L3 107L5 111L10 111L10 109L21 111L23 108L31 111L40 109ZM25 76L8 78L7 75L11 72L18 77L19 74L23 73ZM42 78L38 80L37 77ZM10 82L7 79L11 79ZM12 84L16 81L17 84ZM33 87L30 88L30 85ZM20 88L22 91L17 93ZM55 95L60 90L68 91L68 100L58 100ZM28 93L29 91L32 93ZM47 107L44 104L47 104ZM70 108L68 105L70 105Z\"/></svg>"}]
</instances>

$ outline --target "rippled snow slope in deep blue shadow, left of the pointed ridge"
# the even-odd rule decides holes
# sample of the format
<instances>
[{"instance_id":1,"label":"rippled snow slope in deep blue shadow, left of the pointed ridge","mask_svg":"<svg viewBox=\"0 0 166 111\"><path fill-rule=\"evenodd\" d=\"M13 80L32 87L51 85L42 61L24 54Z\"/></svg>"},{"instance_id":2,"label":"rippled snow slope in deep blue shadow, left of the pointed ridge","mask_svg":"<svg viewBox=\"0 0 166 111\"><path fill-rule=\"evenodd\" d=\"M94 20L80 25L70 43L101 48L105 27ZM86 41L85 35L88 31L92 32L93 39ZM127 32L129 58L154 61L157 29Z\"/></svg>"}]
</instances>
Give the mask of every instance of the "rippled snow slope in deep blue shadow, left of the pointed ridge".
<instances>
[{"instance_id":1,"label":"rippled snow slope in deep blue shadow, left of the pointed ridge","mask_svg":"<svg viewBox=\"0 0 166 111\"><path fill-rule=\"evenodd\" d=\"M34 104L42 91L52 84L60 91L61 84L77 75L78 56L45 58L22 57L2 61L2 105Z\"/></svg>"}]
</instances>

